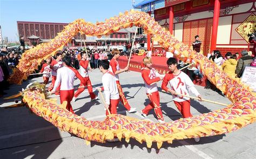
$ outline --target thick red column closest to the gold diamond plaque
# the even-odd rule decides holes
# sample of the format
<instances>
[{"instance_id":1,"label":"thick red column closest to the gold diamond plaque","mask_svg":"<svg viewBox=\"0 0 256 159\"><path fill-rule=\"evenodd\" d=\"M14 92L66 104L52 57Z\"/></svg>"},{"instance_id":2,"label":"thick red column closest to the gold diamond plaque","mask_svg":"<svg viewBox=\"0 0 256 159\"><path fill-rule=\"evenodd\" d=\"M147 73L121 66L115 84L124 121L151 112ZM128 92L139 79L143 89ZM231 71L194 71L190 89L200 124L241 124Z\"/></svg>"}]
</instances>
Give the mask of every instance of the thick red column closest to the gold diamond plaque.
<instances>
[{"instance_id":1,"label":"thick red column closest to the gold diamond plaque","mask_svg":"<svg viewBox=\"0 0 256 159\"><path fill-rule=\"evenodd\" d=\"M216 49L219 15L220 15L220 0L215 0L213 24L212 24L211 52Z\"/></svg>"}]
</instances>

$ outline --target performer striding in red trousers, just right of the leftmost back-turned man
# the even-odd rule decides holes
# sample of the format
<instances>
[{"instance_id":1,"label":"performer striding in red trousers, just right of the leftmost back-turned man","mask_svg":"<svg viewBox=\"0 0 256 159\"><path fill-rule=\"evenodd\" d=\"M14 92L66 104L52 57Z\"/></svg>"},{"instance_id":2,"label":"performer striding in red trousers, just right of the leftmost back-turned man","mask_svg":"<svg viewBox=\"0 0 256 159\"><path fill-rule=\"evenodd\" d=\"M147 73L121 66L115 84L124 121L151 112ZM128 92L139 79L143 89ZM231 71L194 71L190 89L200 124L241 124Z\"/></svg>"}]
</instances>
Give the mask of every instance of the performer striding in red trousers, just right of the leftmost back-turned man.
<instances>
[{"instance_id":1,"label":"performer striding in red trousers, just right of the leftmost back-turned man","mask_svg":"<svg viewBox=\"0 0 256 159\"><path fill-rule=\"evenodd\" d=\"M89 58L87 57L87 54L85 52L81 52L80 53L82 59L79 62L80 68L79 68L79 73L82 75L82 77L85 80L85 83L88 89L88 92L91 96L91 100L97 100L98 96L96 96L93 91L92 91L92 84L91 84L91 80L89 78ZM81 94L84 91L85 87L80 84L77 92L75 93L74 97L73 97L73 101L76 101L76 98L79 94Z\"/></svg>"}]
</instances>

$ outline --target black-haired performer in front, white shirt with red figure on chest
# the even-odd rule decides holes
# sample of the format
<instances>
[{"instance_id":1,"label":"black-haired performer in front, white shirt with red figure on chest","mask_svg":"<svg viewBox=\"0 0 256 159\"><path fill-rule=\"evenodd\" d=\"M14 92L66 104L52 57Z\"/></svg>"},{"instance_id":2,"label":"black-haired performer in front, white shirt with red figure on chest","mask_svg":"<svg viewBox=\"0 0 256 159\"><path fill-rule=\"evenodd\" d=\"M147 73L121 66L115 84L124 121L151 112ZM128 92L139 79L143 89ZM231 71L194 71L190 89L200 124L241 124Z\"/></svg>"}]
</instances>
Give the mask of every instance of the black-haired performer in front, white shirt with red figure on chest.
<instances>
[{"instance_id":1,"label":"black-haired performer in front, white shirt with red figure on chest","mask_svg":"<svg viewBox=\"0 0 256 159\"><path fill-rule=\"evenodd\" d=\"M179 96L177 95L177 93L189 95L188 91L190 91L194 95L196 95L200 99L200 101L203 98L194 87L194 84L188 77L188 75L178 70L178 63L175 58L169 58L167 60L167 65L170 69L170 72L165 74L161 88L164 91L170 92L172 94L172 99L184 118L191 117L192 115L190 113L190 98L187 98L185 96ZM171 85L171 88L167 87L168 84ZM196 137L195 141L198 142L199 138Z\"/></svg>"}]
</instances>

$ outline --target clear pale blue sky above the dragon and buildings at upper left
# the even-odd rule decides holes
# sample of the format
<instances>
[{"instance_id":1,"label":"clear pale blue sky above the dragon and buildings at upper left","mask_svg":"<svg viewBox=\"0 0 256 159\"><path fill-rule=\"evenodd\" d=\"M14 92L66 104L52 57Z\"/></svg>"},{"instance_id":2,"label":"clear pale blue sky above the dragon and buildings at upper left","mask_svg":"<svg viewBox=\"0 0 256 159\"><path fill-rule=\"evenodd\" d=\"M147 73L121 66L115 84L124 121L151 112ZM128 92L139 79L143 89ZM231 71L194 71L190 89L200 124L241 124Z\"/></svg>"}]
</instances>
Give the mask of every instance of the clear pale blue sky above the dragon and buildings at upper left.
<instances>
[{"instance_id":1,"label":"clear pale blue sky above the dragon and buildings at upper left","mask_svg":"<svg viewBox=\"0 0 256 159\"><path fill-rule=\"evenodd\" d=\"M0 0L0 25L3 38L15 42L17 21L70 23L83 18L96 23L130 9L132 0Z\"/></svg>"}]
</instances>

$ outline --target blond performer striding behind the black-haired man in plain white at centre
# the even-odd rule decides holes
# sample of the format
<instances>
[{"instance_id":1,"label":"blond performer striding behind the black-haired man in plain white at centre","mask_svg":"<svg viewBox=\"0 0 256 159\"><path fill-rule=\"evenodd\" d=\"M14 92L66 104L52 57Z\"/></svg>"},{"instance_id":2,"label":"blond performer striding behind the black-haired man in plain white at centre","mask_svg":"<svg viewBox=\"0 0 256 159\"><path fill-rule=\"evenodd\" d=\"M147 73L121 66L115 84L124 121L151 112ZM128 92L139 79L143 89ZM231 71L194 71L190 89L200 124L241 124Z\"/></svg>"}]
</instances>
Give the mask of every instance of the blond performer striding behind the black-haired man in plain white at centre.
<instances>
[{"instance_id":1,"label":"blond performer striding behind the black-haired man in plain white at centre","mask_svg":"<svg viewBox=\"0 0 256 159\"><path fill-rule=\"evenodd\" d=\"M125 72L125 71L128 71L128 66L126 66L124 69L120 69L119 68L119 64L118 64L118 58L120 57L120 51L118 51L117 49L114 49L112 51L112 55L113 55L113 58L110 60L110 67L109 67L109 70L111 72L114 73L115 77L116 77L116 83L117 83L117 88L118 88L118 92L119 92L119 96L120 96L120 100L121 102L123 103L124 107L128 110L129 113L132 113L132 112L136 112L136 108L132 108L127 99L125 98L124 96L124 92L123 92L123 89L120 85L120 82L119 82L119 77L118 77L118 74L119 73L122 73L122 72Z\"/></svg>"}]
</instances>

